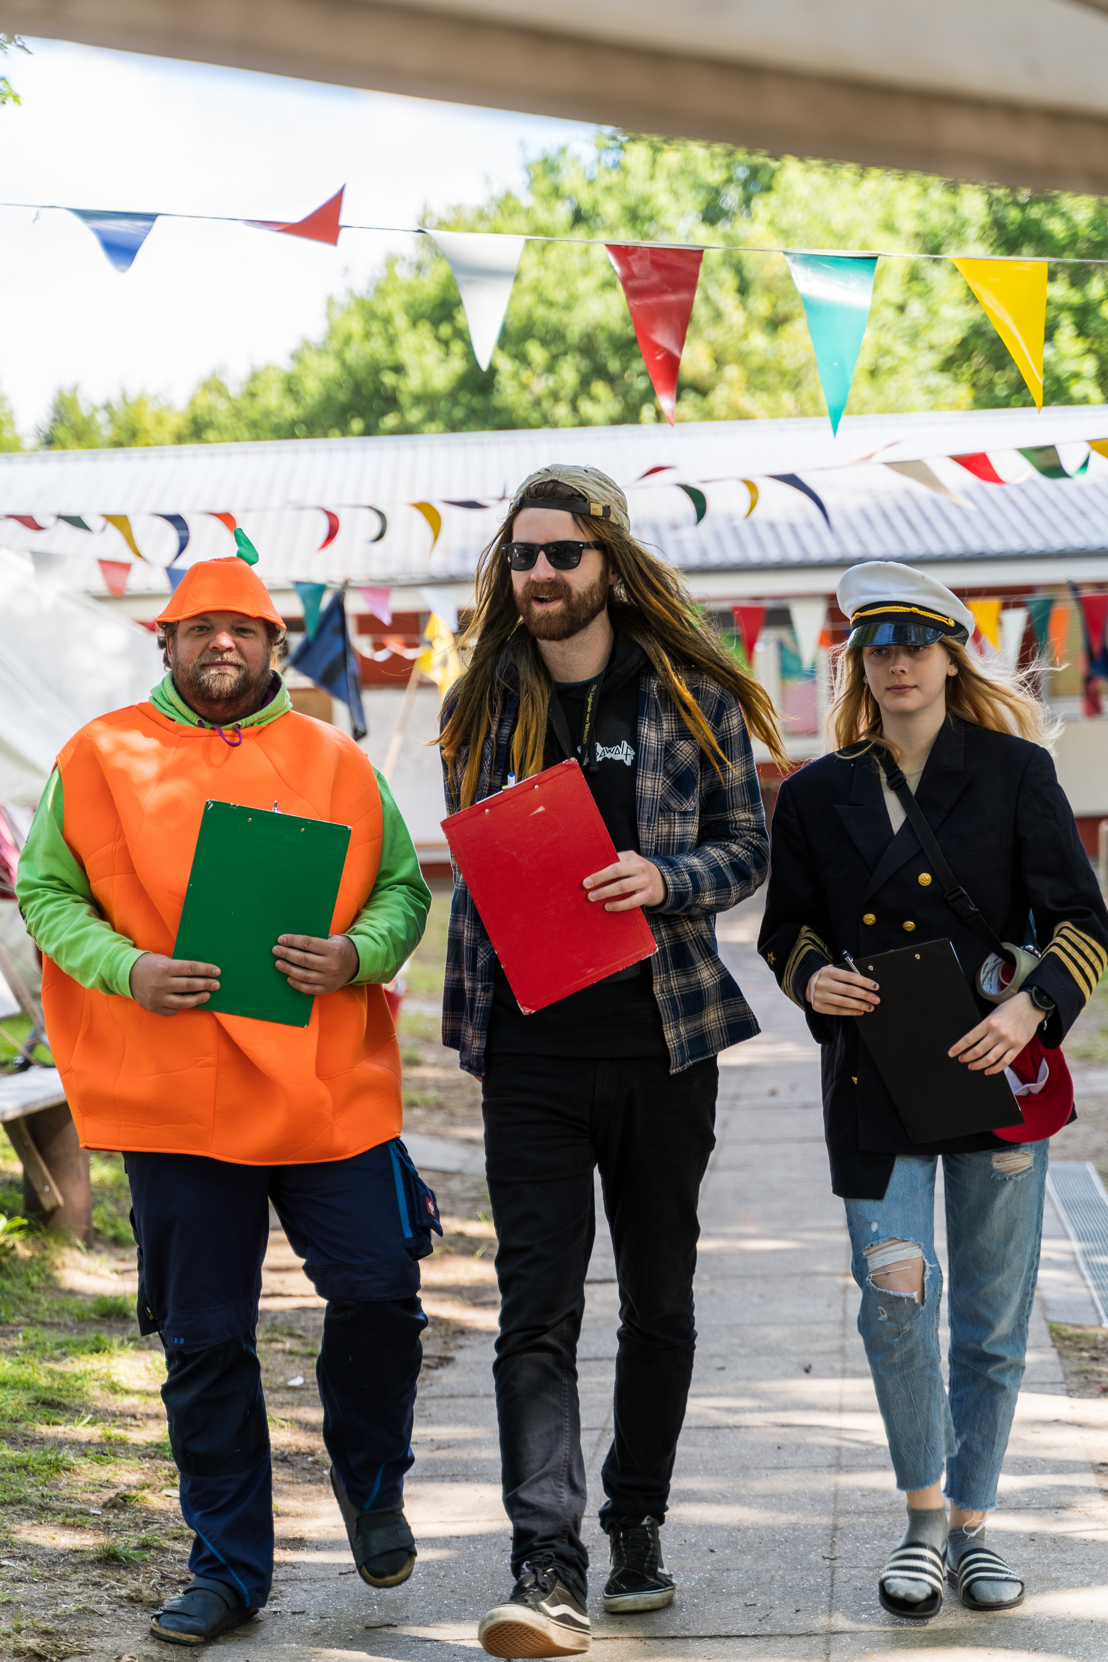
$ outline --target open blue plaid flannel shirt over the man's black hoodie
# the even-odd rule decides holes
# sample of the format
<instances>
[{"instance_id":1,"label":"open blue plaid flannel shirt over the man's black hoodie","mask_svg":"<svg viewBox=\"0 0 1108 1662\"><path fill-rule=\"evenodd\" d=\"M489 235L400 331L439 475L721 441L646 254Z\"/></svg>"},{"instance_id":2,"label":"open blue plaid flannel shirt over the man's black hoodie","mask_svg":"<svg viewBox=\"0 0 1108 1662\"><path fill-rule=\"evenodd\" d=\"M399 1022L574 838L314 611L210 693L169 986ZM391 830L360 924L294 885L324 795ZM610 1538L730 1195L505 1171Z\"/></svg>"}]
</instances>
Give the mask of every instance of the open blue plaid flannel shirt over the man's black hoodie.
<instances>
[{"instance_id":1,"label":"open blue plaid flannel shirt over the man's black hoodie","mask_svg":"<svg viewBox=\"0 0 1108 1662\"><path fill-rule=\"evenodd\" d=\"M754 1012L719 961L716 912L754 894L769 864L762 798L738 700L708 676L689 675L688 685L728 758L723 779L653 668L643 670L638 696L640 853L658 866L666 884L661 906L645 909L643 916L658 942L651 959L655 997L673 1074L759 1032ZM444 720L449 710L450 698ZM515 715L517 693L508 681L493 733L485 740L477 801L503 789ZM465 751L453 770L444 761L450 813L460 806L463 771ZM460 1065L478 1079L493 974L492 941L455 866L442 1042L458 1050Z\"/></svg>"}]
</instances>

